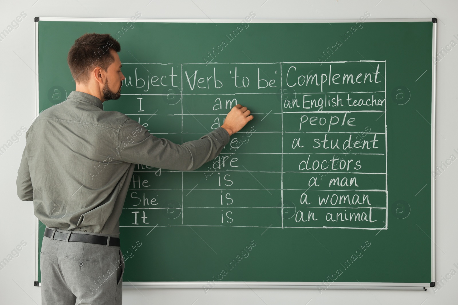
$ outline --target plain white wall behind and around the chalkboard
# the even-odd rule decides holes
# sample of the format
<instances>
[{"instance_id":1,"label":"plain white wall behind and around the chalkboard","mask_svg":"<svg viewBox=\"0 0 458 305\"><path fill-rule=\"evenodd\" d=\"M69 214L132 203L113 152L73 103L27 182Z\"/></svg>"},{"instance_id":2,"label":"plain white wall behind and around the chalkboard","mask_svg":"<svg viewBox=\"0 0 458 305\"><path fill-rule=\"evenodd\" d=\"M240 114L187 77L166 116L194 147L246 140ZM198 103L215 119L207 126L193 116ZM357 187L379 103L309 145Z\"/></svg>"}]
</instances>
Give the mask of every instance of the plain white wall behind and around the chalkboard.
<instances>
[{"instance_id":1,"label":"plain white wall behind and around the chalkboard","mask_svg":"<svg viewBox=\"0 0 458 305\"><path fill-rule=\"evenodd\" d=\"M142 18L234 18L250 11L256 19L333 19L359 18L365 11L372 18L437 17L437 47L458 43L458 2L453 0L237 0L216 5L211 0L27 0L0 1L0 31L16 16L27 16L19 27L0 41L0 145L35 116L35 16L123 17L136 11ZM219 2L219 1L218 1ZM453 35L457 35L454 37ZM436 164L450 155L458 156L458 46L437 64ZM16 196L16 169L19 166L25 136L0 155L0 260L23 240L27 246L0 270L2 304L40 304L40 288L33 286L35 257L35 217L32 202ZM436 179L436 277L440 279L458 268L457 199L458 161ZM41 236L40 236L41 237ZM124 289L124 304L456 304L458 275L441 289L421 291L279 289ZM194 302L194 303L193 303ZM307 303L308 302L308 303Z\"/></svg>"}]
</instances>

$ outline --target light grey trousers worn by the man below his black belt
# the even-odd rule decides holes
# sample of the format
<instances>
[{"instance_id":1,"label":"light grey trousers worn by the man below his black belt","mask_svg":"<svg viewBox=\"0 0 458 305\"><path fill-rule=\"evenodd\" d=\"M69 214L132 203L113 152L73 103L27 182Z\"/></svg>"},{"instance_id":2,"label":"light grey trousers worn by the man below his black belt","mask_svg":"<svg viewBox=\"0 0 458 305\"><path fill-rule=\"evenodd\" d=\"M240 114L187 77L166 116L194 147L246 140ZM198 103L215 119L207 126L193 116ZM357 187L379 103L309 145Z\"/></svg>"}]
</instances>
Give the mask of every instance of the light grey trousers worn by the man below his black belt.
<instances>
[{"instance_id":1,"label":"light grey trousers worn by the man below his black belt","mask_svg":"<svg viewBox=\"0 0 458 305\"><path fill-rule=\"evenodd\" d=\"M81 233L93 234L72 231ZM42 305L122 304L124 259L119 246L43 236L40 270Z\"/></svg>"}]
</instances>

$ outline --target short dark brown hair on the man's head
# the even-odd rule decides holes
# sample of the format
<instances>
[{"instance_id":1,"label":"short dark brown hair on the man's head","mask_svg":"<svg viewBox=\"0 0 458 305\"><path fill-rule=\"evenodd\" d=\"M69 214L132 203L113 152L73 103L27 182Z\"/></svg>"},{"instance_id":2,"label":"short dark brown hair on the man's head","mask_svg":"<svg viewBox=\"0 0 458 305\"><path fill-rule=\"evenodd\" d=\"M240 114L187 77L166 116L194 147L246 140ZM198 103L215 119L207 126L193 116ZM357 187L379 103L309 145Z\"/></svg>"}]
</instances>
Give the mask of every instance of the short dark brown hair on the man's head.
<instances>
[{"instance_id":1,"label":"short dark brown hair on the man's head","mask_svg":"<svg viewBox=\"0 0 458 305\"><path fill-rule=\"evenodd\" d=\"M120 44L110 34L86 33L76 39L67 56L73 79L87 85L91 70L100 67L106 72L114 62L110 49L121 51Z\"/></svg>"}]
</instances>

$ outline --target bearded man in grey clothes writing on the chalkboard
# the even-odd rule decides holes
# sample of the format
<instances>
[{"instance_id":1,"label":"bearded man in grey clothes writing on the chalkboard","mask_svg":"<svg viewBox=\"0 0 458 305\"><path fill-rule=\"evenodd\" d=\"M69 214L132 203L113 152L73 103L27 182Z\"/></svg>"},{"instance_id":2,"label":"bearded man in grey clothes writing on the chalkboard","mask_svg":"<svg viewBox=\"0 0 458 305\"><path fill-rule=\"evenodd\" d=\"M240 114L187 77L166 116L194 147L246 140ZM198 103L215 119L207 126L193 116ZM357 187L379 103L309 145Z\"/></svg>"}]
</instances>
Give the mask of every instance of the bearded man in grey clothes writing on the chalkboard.
<instances>
[{"instance_id":1,"label":"bearded man in grey clothes writing on the chalkboard","mask_svg":"<svg viewBox=\"0 0 458 305\"><path fill-rule=\"evenodd\" d=\"M26 133L16 180L46 225L40 253L42 304L122 304L119 217L136 164L192 171L213 160L253 119L240 104L202 138L174 144L103 102L120 97L120 44L109 34L75 40L67 61L76 82L64 102Z\"/></svg>"}]
</instances>

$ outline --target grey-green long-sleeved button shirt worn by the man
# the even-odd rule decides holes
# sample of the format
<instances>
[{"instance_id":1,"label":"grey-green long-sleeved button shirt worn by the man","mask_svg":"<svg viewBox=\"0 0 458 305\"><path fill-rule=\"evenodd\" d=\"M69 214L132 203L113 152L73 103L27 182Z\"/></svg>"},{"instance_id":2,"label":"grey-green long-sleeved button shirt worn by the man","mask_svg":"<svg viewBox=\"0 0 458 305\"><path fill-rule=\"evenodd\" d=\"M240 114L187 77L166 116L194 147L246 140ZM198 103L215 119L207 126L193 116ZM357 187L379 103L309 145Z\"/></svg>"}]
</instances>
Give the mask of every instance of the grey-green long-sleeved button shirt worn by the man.
<instances>
[{"instance_id":1,"label":"grey-green long-sleeved button shirt worn by the man","mask_svg":"<svg viewBox=\"0 0 458 305\"><path fill-rule=\"evenodd\" d=\"M229 142L218 127L175 144L157 138L96 96L72 91L41 112L26 133L16 180L21 200L33 200L47 227L119 237L119 217L136 164L192 171Z\"/></svg>"}]
</instances>

